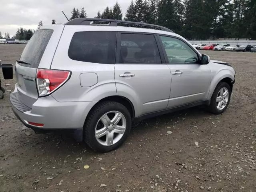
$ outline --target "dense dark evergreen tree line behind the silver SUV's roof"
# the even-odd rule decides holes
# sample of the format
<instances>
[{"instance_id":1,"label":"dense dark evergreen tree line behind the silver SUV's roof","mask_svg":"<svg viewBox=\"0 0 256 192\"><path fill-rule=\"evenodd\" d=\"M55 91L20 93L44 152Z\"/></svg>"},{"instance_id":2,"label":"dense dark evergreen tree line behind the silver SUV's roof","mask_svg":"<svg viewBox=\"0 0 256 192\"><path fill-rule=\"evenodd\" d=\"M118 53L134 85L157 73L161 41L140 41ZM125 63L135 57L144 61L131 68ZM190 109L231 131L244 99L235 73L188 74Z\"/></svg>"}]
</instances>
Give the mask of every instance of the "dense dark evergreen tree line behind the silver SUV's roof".
<instances>
[{"instance_id":1,"label":"dense dark evergreen tree line behind the silver SUV's roof","mask_svg":"<svg viewBox=\"0 0 256 192\"><path fill-rule=\"evenodd\" d=\"M70 19L80 17L85 9L73 8ZM256 40L256 0L132 0L124 17L116 2L95 18L158 24L189 40Z\"/></svg>"}]
</instances>

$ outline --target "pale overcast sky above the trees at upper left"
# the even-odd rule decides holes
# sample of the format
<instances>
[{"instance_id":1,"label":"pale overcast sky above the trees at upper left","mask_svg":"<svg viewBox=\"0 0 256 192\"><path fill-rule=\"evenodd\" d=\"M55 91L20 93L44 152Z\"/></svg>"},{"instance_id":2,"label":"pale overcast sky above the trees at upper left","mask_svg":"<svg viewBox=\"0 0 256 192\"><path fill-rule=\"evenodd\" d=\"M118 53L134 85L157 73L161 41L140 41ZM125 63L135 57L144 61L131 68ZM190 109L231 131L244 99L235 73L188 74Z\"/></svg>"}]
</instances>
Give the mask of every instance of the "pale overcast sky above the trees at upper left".
<instances>
[{"instance_id":1,"label":"pale overcast sky above the trees at upper left","mask_svg":"<svg viewBox=\"0 0 256 192\"><path fill-rule=\"evenodd\" d=\"M92 18L106 6L112 6L116 0L1 0L0 2L0 31L2 36L9 32L10 36L16 34L17 28L36 29L40 20L43 24L66 22L62 10L70 18L73 7L84 7L87 16ZM130 0L118 0L123 16L130 4Z\"/></svg>"}]
</instances>

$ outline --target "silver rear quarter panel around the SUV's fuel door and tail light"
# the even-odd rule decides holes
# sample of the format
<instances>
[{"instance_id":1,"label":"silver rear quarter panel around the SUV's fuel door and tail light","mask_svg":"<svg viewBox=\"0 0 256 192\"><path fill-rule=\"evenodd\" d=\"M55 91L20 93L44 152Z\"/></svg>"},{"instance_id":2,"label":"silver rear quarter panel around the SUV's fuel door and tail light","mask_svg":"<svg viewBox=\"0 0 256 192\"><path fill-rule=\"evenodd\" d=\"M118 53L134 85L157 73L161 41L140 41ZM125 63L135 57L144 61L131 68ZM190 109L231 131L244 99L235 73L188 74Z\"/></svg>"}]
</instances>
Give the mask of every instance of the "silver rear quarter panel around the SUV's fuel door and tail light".
<instances>
[{"instance_id":1,"label":"silver rear quarter panel around the SUV's fuel door and tail light","mask_svg":"<svg viewBox=\"0 0 256 192\"><path fill-rule=\"evenodd\" d=\"M51 69L71 71L68 82L60 87L52 96L59 102L85 102L99 101L102 98L116 95L114 79L114 64L98 64L72 60L68 56L68 49L72 36L78 31L92 31L88 26L65 26L62 37L56 49ZM86 38L86 37L84 37ZM96 73L97 80L93 79L92 86L84 87L80 82L80 75L86 78L86 73L91 76ZM96 84L95 84L96 82Z\"/></svg>"}]
</instances>

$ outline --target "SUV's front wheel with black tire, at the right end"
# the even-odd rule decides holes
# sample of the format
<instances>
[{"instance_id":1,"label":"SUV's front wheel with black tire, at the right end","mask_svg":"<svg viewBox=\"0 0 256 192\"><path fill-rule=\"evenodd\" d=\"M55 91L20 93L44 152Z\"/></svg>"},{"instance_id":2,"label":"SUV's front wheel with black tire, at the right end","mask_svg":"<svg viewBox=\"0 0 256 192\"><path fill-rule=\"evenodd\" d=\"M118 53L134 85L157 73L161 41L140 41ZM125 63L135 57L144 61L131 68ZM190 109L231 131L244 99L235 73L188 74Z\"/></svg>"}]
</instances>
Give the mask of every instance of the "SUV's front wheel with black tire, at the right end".
<instances>
[{"instance_id":1,"label":"SUV's front wheel with black tire, at the right end","mask_svg":"<svg viewBox=\"0 0 256 192\"><path fill-rule=\"evenodd\" d=\"M209 111L213 114L222 114L228 107L230 96L231 89L229 84L220 82L212 94L211 102L208 107Z\"/></svg>"}]
</instances>

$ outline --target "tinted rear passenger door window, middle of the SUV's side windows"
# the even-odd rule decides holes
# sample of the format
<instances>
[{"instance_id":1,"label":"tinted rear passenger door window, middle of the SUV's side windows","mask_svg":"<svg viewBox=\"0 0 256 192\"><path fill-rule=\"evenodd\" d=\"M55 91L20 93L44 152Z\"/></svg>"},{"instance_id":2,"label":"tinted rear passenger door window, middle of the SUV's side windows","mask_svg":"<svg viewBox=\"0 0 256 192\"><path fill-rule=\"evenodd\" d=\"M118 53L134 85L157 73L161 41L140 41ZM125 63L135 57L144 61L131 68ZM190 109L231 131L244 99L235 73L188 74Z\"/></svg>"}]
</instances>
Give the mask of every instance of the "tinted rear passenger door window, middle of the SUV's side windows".
<instances>
[{"instance_id":1,"label":"tinted rear passenger door window, middle of the SUV's side windows","mask_svg":"<svg viewBox=\"0 0 256 192\"><path fill-rule=\"evenodd\" d=\"M160 64L154 35L122 33L120 63Z\"/></svg>"}]
</instances>

